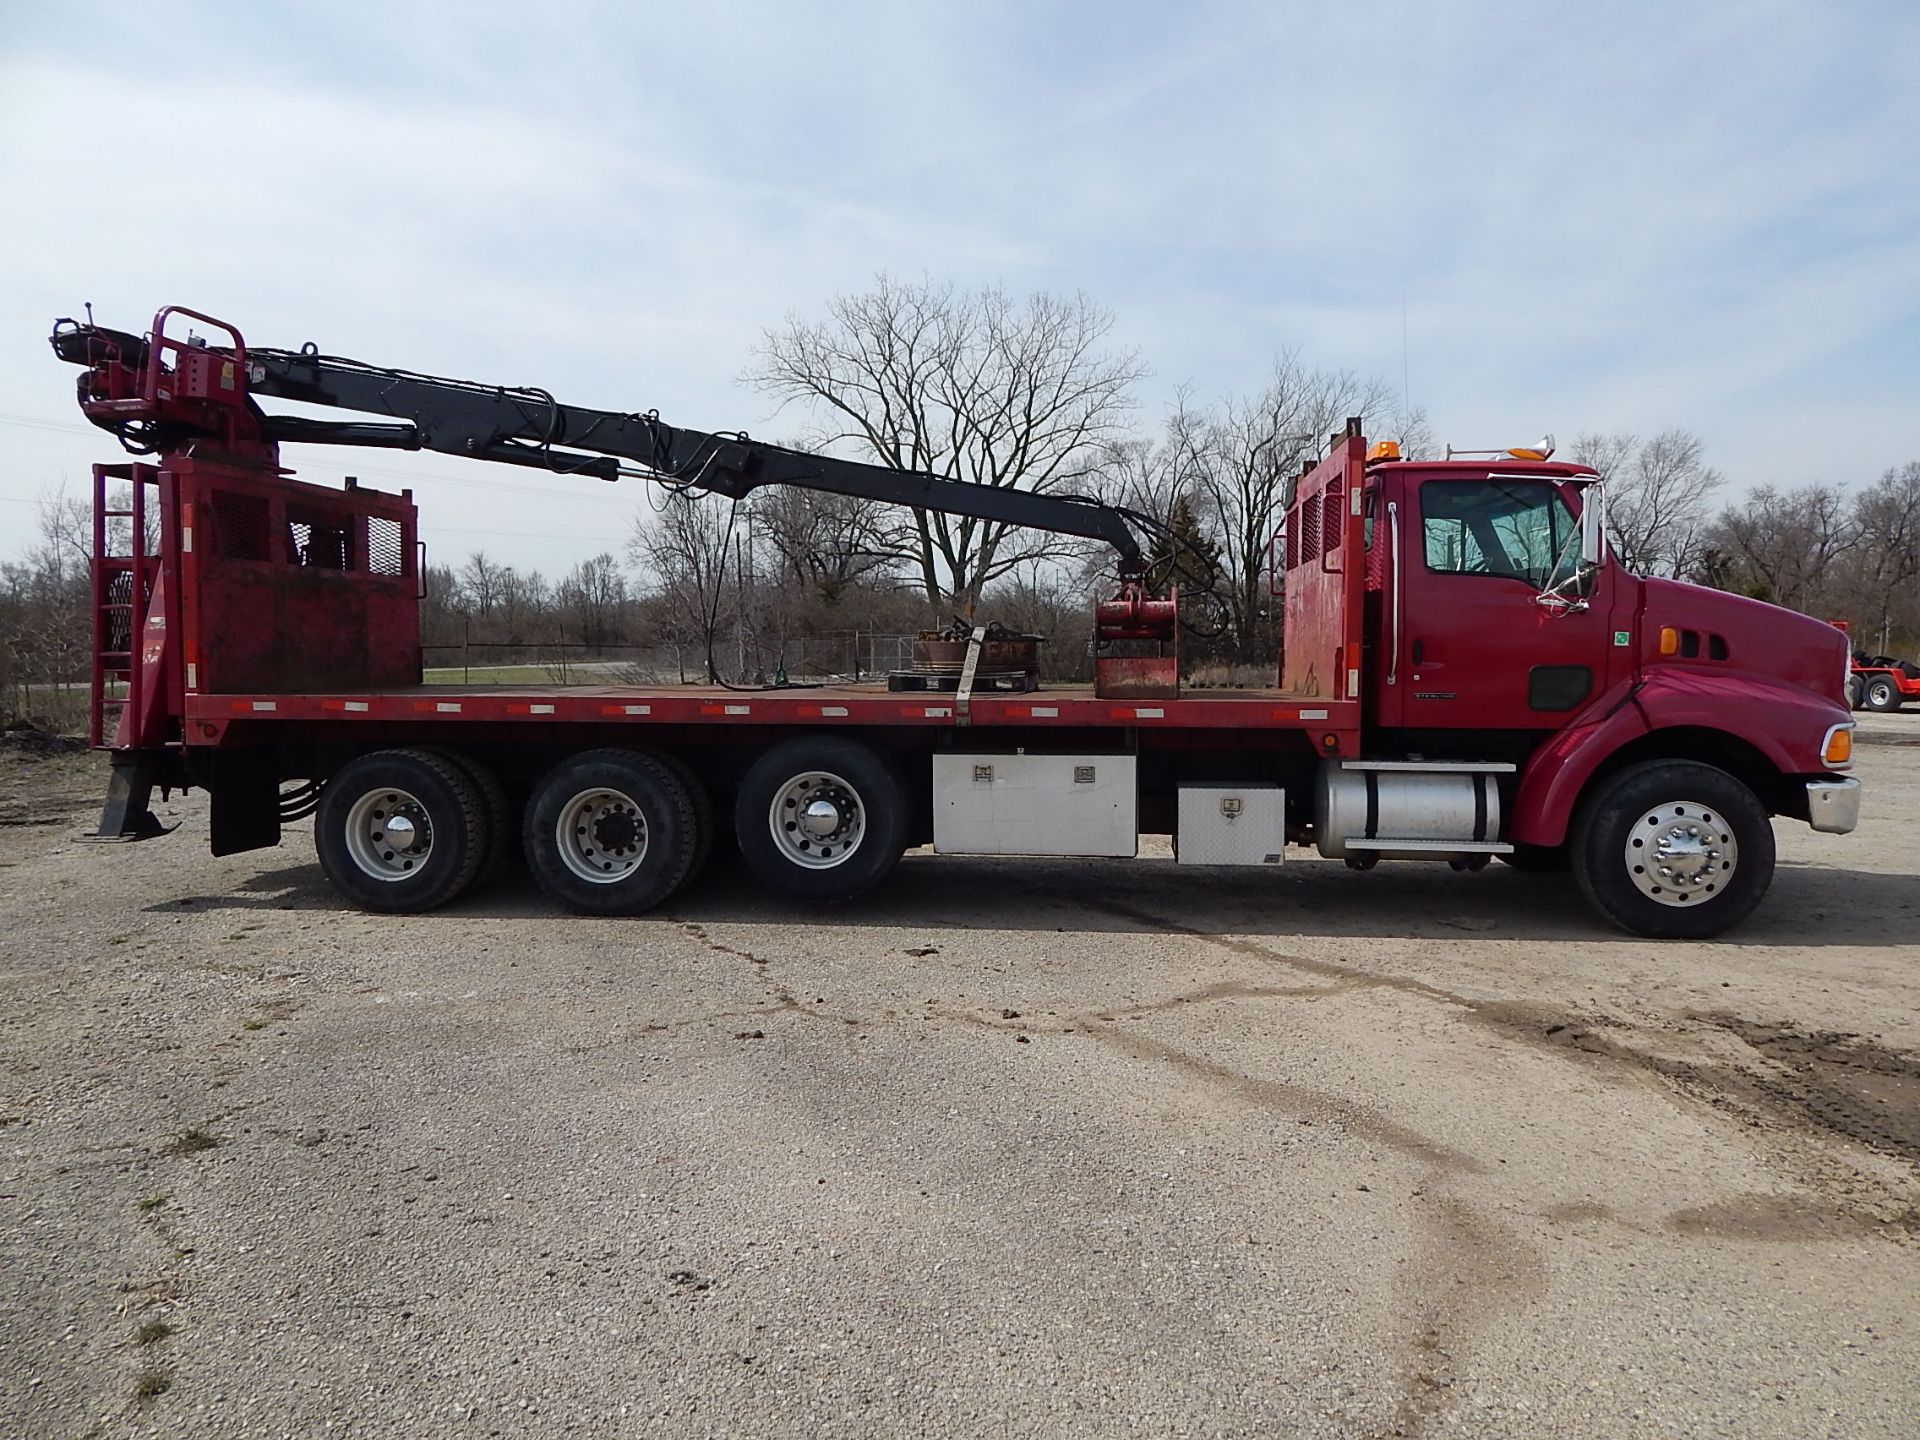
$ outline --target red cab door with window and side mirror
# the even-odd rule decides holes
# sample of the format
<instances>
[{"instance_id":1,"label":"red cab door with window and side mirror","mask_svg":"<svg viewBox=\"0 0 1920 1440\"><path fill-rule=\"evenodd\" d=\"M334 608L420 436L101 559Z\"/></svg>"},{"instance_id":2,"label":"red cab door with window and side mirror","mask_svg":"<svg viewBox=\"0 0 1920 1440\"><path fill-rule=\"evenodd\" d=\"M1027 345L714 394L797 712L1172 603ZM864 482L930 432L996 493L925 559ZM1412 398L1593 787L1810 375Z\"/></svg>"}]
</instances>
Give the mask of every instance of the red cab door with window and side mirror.
<instances>
[{"instance_id":1,"label":"red cab door with window and side mirror","mask_svg":"<svg viewBox=\"0 0 1920 1440\"><path fill-rule=\"evenodd\" d=\"M1615 630L1611 564L1594 572L1584 609L1538 603L1580 543L1557 480L1427 476L1396 499L1382 724L1559 730L1624 668L1632 649Z\"/></svg>"}]
</instances>

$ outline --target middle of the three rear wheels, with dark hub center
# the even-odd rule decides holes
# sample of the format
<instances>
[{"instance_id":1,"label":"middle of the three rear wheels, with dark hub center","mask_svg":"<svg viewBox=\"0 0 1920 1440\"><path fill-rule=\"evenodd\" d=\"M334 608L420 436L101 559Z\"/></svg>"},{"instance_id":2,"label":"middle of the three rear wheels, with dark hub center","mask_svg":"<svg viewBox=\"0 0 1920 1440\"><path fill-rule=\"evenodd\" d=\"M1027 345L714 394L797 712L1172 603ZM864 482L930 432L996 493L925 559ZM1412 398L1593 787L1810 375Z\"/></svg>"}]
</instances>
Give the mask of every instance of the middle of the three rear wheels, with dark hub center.
<instances>
[{"instance_id":1,"label":"middle of the three rear wheels, with dark hub center","mask_svg":"<svg viewBox=\"0 0 1920 1440\"><path fill-rule=\"evenodd\" d=\"M586 751L549 770L520 828L534 879L568 910L637 916L685 881L693 799L659 756Z\"/></svg>"}]
</instances>

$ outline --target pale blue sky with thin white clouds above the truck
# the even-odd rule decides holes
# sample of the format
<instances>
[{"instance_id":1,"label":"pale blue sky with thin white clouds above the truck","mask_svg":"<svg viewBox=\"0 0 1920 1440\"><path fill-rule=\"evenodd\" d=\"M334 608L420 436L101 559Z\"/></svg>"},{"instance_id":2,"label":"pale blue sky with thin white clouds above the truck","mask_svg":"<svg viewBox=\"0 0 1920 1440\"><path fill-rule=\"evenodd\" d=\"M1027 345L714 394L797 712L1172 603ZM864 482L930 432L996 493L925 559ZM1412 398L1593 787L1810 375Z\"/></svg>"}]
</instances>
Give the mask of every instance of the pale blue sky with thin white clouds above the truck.
<instances>
[{"instance_id":1,"label":"pale blue sky with thin white clouds above the truck","mask_svg":"<svg viewBox=\"0 0 1920 1440\"><path fill-rule=\"evenodd\" d=\"M1455 445L1686 424L1736 488L1870 480L1920 459L1916 75L1910 0L0 0L0 557L115 455L44 346L88 300L778 434L735 376L787 313L1085 290L1144 428L1298 348L1405 359ZM290 459L413 484L436 559L551 572L643 505Z\"/></svg>"}]
</instances>

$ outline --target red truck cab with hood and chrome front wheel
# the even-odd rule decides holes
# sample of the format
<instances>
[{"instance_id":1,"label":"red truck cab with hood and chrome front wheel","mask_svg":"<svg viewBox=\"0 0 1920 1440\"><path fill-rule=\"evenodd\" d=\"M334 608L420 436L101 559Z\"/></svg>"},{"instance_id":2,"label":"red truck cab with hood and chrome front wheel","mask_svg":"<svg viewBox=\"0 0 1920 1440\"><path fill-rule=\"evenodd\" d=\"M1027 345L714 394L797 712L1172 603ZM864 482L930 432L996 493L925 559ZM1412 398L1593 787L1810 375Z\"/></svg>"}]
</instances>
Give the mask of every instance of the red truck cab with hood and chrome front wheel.
<instances>
[{"instance_id":1,"label":"red truck cab with hood and chrome front wheel","mask_svg":"<svg viewBox=\"0 0 1920 1440\"><path fill-rule=\"evenodd\" d=\"M1599 476L1542 451L1377 445L1361 495L1365 751L1415 766L1375 791L1421 766L1498 776L1500 854L1572 868L1640 933L1713 933L1751 908L1772 814L1853 828L1830 624L1628 572Z\"/></svg>"}]
</instances>

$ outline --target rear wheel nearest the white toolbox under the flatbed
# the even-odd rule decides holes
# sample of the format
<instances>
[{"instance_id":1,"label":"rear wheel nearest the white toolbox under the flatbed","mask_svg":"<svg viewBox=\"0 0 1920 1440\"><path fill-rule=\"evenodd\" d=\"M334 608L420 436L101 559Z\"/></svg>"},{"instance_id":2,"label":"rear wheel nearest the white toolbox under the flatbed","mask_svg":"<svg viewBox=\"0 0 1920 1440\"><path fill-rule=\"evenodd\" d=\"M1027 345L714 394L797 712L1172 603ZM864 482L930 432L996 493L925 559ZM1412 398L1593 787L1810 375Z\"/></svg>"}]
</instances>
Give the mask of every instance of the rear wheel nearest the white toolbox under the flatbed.
<instances>
[{"instance_id":1,"label":"rear wheel nearest the white toolbox under the flatbed","mask_svg":"<svg viewBox=\"0 0 1920 1440\"><path fill-rule=\"evenodd\" d=\"M747 868L774 889L820 904L851 900L906 851L906 787L858 741L799 735L747 770L733 831Z\"/></svg>"}]
</instances>

